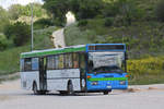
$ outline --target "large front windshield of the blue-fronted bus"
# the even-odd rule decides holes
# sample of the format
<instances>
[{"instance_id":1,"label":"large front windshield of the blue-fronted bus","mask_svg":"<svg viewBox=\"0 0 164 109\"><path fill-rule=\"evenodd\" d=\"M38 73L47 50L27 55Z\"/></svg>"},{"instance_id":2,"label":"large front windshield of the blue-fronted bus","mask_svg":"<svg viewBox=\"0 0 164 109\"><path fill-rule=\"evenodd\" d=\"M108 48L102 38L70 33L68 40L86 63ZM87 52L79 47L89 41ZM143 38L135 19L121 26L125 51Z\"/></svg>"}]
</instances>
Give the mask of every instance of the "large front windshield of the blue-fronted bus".
<instances>
[{"instance_id":1,"label":"large front windshield of the blue-fronted bus","mask_svg":"<svg viewBox=\"0 0 164 109\"><path fill-rule=\"evenodd\" d=\"M125 52L90 52L89 72L124 73Z\"/></svg>"}]
</instances>

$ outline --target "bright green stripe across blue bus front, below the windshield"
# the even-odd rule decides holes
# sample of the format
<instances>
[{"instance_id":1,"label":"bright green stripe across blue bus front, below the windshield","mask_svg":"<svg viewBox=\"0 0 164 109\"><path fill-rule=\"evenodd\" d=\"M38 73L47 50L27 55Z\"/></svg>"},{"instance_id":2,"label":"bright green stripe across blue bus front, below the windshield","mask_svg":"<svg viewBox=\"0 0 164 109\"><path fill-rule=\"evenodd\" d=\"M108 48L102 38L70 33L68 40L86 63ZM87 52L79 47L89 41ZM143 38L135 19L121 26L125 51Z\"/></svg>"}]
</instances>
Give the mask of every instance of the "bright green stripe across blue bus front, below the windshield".
<instances>
[{"instance_id":1,"label":"bright green stripe across blue bus front, below the windshield","mask_svg":"<svg viewBox=\"0 0 164 109\"><path fill-rule=\"evenodd\" d=\"M89 78L87 81L127 81L128 77L104 77L104 78Z\"/></svg>"}]
</instances>

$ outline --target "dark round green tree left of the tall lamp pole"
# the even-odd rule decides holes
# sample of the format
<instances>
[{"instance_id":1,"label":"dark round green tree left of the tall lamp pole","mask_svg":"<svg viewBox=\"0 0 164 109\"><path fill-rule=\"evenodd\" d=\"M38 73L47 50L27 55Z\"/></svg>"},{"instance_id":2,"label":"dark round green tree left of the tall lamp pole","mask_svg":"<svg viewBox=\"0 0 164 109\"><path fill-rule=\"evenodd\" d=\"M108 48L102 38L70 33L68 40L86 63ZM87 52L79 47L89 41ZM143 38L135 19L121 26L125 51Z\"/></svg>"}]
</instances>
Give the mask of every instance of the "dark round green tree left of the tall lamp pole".
<instances>
[{"instance_id":1,"label":"dark round green tree left of the tall lamp pole","mask_svg":"<svg viewBox=\"0 0 164 109\"><path fill-rule=\"evenodd\" d=\"M16 22L14 24L7 25L4 34L8 39L12 39L15 46L23 46L30 40L31 29L26 23Z\"/></svg>"}]
</instances>

